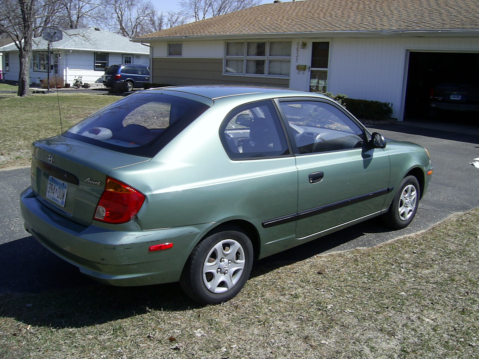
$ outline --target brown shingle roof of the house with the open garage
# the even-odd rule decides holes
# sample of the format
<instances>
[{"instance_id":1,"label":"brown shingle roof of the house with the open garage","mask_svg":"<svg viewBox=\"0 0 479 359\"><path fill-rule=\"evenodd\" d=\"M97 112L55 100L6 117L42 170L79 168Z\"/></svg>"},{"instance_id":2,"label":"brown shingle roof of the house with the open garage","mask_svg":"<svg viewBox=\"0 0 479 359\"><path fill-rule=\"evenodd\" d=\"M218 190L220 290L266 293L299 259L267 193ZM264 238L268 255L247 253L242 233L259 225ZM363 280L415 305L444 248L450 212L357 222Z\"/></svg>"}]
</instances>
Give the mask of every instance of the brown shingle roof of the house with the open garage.
<instances>
[{"instance_id":1,"label":"brown shingle roof of the house with the open garage","mask_svg":"<svg viewBox=\"0 0 479 359\"><path fill-rule=\"evenodd\" d=\"M479 0L305 0L263 4L137 39L478 29Z\"/></svg>"}]
</instances>

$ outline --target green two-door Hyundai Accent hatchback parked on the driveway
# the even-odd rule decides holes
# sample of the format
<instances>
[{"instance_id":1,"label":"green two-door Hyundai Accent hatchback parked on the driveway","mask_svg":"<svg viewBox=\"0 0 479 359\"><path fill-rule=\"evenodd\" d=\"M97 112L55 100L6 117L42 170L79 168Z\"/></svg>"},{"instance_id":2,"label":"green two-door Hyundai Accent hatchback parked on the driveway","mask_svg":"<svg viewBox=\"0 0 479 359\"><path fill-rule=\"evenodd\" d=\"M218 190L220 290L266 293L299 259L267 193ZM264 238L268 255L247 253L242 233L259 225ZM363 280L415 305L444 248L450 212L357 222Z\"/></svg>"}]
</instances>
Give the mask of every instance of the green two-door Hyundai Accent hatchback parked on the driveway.
<instances>
[{"instance_id":1,"label":"green two-door Hyundai Accent hatchback parked on the driveway","mask_svg":"<svg viewBox=\"0 0 479 359\"><path fill-rule=\"evenodd\" d=\"M32 145L25 227L104 283L179 281L221 303L264 258L381 215L403 228L431 179L422 146L370 134L296 90L133 93Z\"/></svg>"}]
</instances>

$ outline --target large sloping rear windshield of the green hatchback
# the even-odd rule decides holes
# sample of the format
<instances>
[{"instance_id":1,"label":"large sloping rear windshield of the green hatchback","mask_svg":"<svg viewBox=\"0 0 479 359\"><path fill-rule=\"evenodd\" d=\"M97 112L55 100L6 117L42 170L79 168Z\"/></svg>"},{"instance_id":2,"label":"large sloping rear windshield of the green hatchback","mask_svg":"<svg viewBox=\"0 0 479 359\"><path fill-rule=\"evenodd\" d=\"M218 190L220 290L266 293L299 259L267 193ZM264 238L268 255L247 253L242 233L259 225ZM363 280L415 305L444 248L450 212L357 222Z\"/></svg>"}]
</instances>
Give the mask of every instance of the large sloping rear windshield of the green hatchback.
<instances>
[{"instance_id":1,"label":"large sloping rear windshield of the green hatchback","mask_svg":"<svg viewBox=\"0 0 479 359\"><path fill-rule=\"evenodd\" d=\"M71 127L65 136L134 155L154 156L208 108L201 102L157 94L131 94Z\"/></svg>"}]
</instances>

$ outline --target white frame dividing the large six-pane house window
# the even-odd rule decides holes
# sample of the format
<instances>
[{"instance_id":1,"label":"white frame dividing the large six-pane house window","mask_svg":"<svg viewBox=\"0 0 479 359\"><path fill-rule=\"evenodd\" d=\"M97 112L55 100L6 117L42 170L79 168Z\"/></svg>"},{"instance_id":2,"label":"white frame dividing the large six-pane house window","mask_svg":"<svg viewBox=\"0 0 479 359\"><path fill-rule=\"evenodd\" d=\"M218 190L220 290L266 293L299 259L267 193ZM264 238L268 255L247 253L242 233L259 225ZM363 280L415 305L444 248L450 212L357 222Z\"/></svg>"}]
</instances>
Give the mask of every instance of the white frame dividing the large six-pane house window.
<instances>
[{"instance_id":1,"label":"white frame dividing the large six-pane house window","mask_svg":"<svg viewBox=\"0 0 479 359\"><path fill-rule=\"evenodd\" d=\"M277 79L289 79L289 69L291 64L291 53L287 56L272 56L270 55L271 43L276 42L287 42L291 44L290 41L269 41L269 40L255 40L255 41L226 41L225 42L225 56L223 58L223 75L226 76L247 76L247 77L262 77L262 78L277 78ZM227 55L227 46L228 43L243 43L243 54L242 55ZM265 43L265 55L264 56L248 56L248 43ZM228 60L240 60L243 61L242 72L228 72L227 71L227 61ZM263 74L253 74L247 72L247 62L248 60L262 60L264 61L264 73ZM288 63L288 74L287 75L270 75L269 66L270 61L284 61Z\"/></svg>"}]
</instances>

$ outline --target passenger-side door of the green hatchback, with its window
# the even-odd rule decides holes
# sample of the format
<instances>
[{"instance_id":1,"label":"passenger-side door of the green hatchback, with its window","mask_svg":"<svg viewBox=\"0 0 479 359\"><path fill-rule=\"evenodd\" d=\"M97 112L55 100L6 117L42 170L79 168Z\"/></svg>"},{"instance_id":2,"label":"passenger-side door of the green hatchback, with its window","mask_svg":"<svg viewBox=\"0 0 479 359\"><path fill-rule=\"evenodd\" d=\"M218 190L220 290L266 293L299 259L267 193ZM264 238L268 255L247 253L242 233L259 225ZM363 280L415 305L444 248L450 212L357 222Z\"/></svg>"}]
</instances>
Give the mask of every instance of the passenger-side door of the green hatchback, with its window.
<instances>
[{"instance_id":1,"label":"passenger-side door of the green hatchback, with its window","mask_svg":"<svg viewBox=\"0 0 479 359\"><path fill-rule=\"evenodd\" d=\"M381 211L389 189L389 158L339 106L281 100L280 111L296 151L296 236L321 232Z\"/></svg>"}]
</instances>

